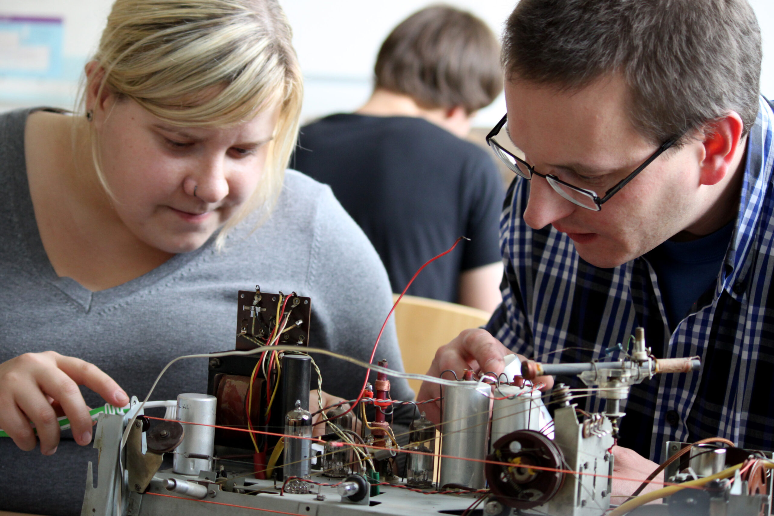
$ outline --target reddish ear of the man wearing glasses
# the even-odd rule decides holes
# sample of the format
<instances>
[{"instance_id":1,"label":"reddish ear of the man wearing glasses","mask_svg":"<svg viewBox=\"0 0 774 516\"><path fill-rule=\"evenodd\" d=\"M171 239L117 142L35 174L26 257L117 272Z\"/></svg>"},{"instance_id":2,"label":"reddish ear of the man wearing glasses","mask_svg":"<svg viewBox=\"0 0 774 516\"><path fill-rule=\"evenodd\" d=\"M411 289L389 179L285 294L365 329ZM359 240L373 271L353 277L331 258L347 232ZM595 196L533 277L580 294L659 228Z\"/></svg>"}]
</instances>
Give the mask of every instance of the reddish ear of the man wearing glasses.
<instances>
[{"instance_id":1,"label":"reddish ear of the man wearing glasses","mask_svg":"<svg viewBox=\"0 0 774 516\"><path fill-rule=\"evenodd\" d=\"M744 124L736 111L728 111L722 118L711 121L704 127L702 145L704 159L700 165L700 184L711 186L720 183L730 170L731 162L741 144Z\"/></svg>"}]
</instances>

